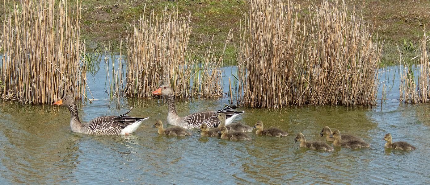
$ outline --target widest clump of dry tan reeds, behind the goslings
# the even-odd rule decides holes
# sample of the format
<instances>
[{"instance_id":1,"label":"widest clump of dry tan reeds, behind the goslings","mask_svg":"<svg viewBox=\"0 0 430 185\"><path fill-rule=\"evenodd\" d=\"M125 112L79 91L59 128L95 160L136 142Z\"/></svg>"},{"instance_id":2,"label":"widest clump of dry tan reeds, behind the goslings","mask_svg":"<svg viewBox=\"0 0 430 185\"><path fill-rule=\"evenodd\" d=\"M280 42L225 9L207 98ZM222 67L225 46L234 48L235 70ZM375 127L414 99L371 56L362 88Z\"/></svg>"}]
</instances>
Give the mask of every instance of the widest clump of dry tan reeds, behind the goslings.
<instances>
[{"instance_id":1,"label":"widest clump of dry tan reeds, behind the goslings","mask_svg":"<svg viewBox=\"0 0 430 185\"><path fill-rule=\"evenodd\" d=\"M292 2L249 3L238 55L238 88L247 106L376 102L382 42L355 12L323 1L300 19Z\"/></svg>"}]
</instances>

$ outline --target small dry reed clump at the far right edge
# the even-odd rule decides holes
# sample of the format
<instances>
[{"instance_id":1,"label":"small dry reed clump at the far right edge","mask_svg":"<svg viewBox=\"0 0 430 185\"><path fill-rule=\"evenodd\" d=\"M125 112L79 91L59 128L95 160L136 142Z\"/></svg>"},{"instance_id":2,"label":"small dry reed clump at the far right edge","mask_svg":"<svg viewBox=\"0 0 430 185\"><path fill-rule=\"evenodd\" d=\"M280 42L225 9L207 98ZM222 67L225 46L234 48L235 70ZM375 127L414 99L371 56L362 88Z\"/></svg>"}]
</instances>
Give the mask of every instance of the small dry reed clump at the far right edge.
<instances>
[{"instance_id":1,"label":"small dry reed clump at the far right edge","mask_svg":"<svg viewBox=\"0 0 430 185\"><path fill-rule=\"evenodd\" d=\"M418 66L405 62L400 54L400 60L404 65L403 74L400 77L400 101L405 103L430 102L430 58L427 49L429 41L430 36L427 36L424 30L423 37L420 39L421 53L418 58Z\"/></svg>"}]
</instances>

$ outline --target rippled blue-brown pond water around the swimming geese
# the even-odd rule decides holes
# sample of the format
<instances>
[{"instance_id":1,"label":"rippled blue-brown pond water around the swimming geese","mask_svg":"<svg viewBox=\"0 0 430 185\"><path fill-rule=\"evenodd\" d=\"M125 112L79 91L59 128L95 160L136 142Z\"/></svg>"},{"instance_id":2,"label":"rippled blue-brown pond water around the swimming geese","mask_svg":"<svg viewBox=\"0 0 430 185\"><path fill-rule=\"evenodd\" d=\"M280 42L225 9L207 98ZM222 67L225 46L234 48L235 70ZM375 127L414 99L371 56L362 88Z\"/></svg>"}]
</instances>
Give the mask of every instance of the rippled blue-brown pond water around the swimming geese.
<instances>
[{"instance_id":1,"label":"rippled blue-brown pond water around the swimming geese","mask_svg":"<svg viewBox=\"0 0 430 185\"><path fill-rule=\"evenodd\" d=\"M378 106L304 106L246 109L236 121L279 127L289 136L250 133L250 141L163 136L151 126L166 120L167 103L160 99L128 98L109 102L104 64L89 76L95 99L79 102L82 121L104 115L151 117L129 136L94 136L70 131L70 113L63 106L21 105L0 101L1 184L429 184L430 108L400 103L398 74L384 76L387 100ZM394 68L393 68L394 69ZM230 74L226 74L226 78ZM384 81L381 80L381 81ZM225 82L225 80L224 80ZM227 87L228 88L228 87ZM155 90L155 89L154 89ZM176 103L179 115L217 110L227 99ZM294 137L324 141L322 127L363 138L371 147L333 152L299 147ZM165 124L165 127L167 125ZM381 141L406 141L415 151L386 149ZM332 143L332 142L328 142Z\"/></svg>"}]
</instances>

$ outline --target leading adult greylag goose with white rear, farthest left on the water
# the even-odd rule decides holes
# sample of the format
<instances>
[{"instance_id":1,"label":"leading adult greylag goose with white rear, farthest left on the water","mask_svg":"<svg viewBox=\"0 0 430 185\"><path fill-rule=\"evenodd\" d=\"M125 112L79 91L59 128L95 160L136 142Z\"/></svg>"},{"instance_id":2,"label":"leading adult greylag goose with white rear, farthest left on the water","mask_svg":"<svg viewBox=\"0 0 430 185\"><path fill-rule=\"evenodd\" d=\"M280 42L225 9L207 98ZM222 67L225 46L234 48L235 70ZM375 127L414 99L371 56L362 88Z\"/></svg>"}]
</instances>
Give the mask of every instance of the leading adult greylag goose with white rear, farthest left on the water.
<instances>
[{"instance_id":1,"label":"leading adult greylag goose with white rear, farthest left on the water","mask_svg":"<svg viewBox=\"0 0 430 185\"><path fill-rule=\"evenodd\" d=\"M82 123L79 120L78 108L75 99L70 96L64 96L61 100L58 100L54 105L67 106L70 111L70 128L72 132L86 133L86 134L97 134L97 135L128 135L136 131L140 124L148 118L138 118L128 116L127 114L132 110L130 108L128 112L123 115L111 115L101 116L94 118L87 123Z\"/></svg>"}]
</instances>

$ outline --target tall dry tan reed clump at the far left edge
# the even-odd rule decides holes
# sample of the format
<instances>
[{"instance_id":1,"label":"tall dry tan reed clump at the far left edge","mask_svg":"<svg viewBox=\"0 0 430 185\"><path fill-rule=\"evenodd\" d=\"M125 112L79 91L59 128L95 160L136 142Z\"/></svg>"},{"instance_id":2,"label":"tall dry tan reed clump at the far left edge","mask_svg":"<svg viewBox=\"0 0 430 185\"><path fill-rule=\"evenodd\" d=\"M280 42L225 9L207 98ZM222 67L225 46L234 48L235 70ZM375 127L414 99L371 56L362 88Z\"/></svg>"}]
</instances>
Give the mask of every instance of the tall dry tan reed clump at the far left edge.
<instances>
[{"instance_id":1,"label":"tall dry tan reed clump at the far left edge","mask_svg":"<svg viewBox=\"0 0 430 185\"><path fill-rule=\"evenodd\" d=\"M13 2L15 9L5 15L0 38L0 96L40 104L54 103L65 94L85 95L80 7L71 14L65 0L57 7L55 0Z\"/></svg>"}]
</instances>

